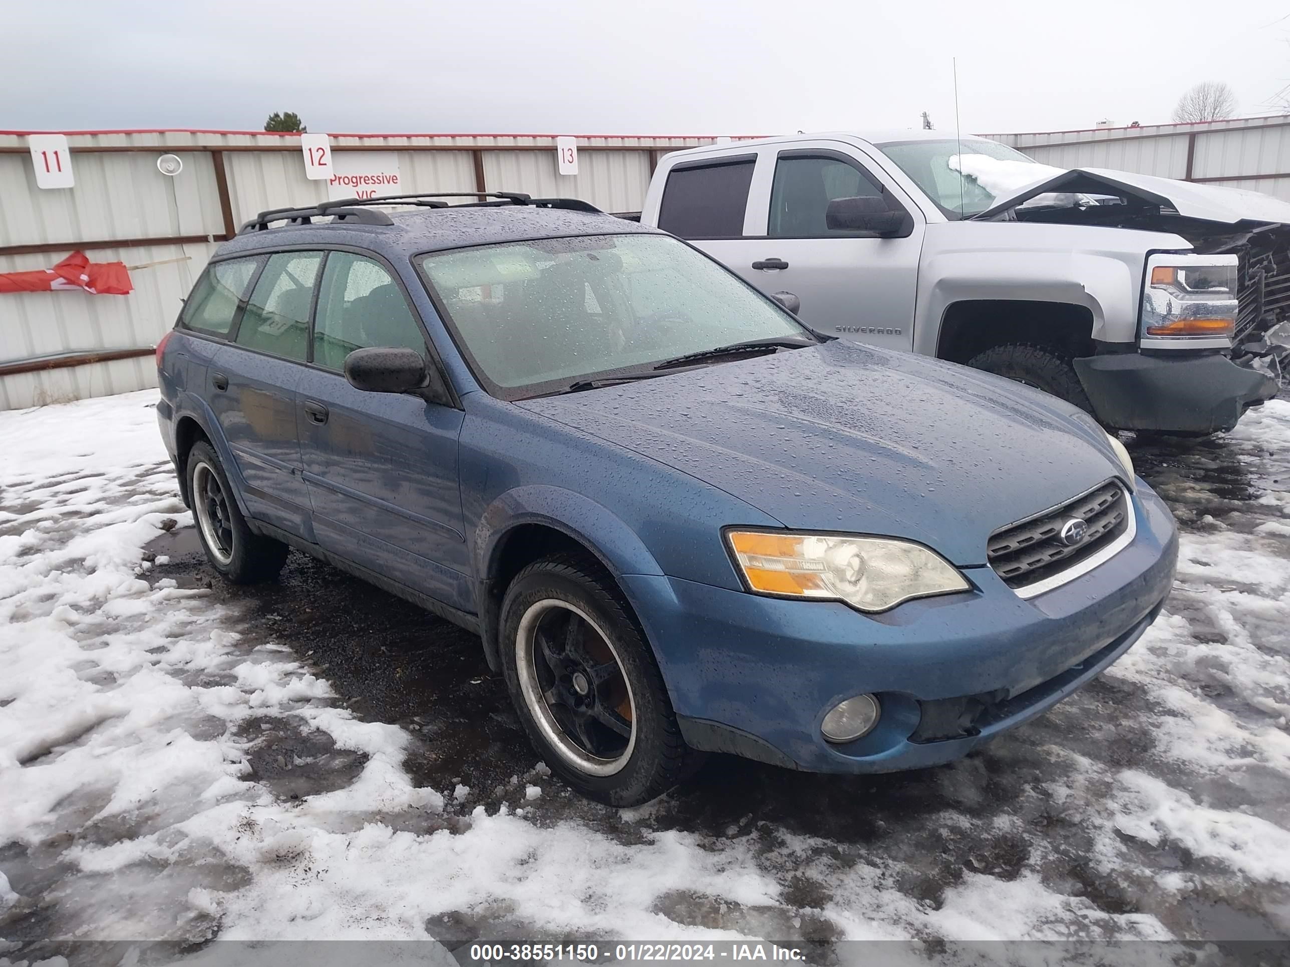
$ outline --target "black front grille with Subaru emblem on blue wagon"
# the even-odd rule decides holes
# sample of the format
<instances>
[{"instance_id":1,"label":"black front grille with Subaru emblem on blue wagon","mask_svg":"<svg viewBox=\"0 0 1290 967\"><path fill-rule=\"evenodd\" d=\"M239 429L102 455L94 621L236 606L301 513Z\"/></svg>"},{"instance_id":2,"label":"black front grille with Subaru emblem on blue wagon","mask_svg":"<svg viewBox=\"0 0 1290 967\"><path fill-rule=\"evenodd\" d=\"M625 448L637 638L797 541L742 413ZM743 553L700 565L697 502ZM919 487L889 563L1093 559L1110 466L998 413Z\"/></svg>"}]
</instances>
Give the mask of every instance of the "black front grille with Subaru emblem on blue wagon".
<instances>
[{"instance_id":1,"label":"black front grille with Subaru emblem on blue wagon","mask_svg":"<svg viewBox=\"0 0 1290 967\"><path fill-rule=\"evenodd\" d=\"M1085 522L1084 538L1066 544L1062 529L1076 518ZM1108 482L1060 507L995 531L986 545L986 560L1007 587L1020 589L1075 567L1124 534L1127 526L1125 490Z\"/></svg>"}]
</instances>

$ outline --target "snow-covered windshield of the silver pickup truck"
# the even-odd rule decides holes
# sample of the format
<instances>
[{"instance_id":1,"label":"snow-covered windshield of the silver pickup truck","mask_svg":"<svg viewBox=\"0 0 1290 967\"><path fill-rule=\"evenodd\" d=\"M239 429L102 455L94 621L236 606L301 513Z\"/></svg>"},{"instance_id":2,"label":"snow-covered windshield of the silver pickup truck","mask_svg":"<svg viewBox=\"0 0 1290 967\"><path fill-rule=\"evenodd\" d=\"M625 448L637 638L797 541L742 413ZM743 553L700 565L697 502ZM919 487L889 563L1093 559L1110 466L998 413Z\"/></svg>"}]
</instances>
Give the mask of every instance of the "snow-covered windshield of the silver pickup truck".
<instances>
[{"instance_id":1,"label":"snow-covered windshield of the silver pickup truck","mask_svg":"<svg viewBox=\"0 0 1290 967\"><path fill-rule=\"evenodd\" d=\"M900 141L877 147L949 218L975 215L993 205L996 197L1062 170L983 138Z\"/></svg>"}]
</instances>

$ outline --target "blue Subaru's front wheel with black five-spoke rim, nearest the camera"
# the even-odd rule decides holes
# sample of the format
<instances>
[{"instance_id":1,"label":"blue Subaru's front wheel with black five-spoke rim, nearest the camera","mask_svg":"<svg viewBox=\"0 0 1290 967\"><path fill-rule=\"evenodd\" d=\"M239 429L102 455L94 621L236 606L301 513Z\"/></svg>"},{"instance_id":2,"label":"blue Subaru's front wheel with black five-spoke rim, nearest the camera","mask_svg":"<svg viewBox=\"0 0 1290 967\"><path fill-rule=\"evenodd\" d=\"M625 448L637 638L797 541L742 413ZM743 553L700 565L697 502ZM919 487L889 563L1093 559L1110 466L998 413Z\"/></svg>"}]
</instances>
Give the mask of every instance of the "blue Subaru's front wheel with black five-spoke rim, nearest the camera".
<instances>
[{"instance_id":1,"label":"blue Subaru's front wheel with black five-spoke rim, nearest the camera","mask_svg":"<svg viewBox=\"0 0 1290 967\"><path fill-rule=\"evenodd\" d=\"M583 796L639 806L698 765L622 592L575 556L520 571L502 601L501 658L538 754Z\"/></svg>"}]
</instances>

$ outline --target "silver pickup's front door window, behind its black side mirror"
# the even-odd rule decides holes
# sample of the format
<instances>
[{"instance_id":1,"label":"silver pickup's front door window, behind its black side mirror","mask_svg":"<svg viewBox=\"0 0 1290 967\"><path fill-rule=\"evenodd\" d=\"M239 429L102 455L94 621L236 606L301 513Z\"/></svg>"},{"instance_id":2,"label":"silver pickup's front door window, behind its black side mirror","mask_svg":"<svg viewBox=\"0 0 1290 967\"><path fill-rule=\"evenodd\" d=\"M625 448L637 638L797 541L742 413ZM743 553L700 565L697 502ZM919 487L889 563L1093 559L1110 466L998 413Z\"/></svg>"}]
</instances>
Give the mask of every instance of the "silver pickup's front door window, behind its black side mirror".
<instances>
[{"instance_id":1,"label":"silver pickup's front door window, behind its black side mirror","mask_svg":"<svg viewBox=\"0 0 1290 967\"><path fill-rule=\"evenodd\" d=\"M881 197L882 188L855 165L835 157L783 157L770 187L771 239L823 239L857 232L831 230L824 219L833 199Z\"/></svg>"}]
</instances>

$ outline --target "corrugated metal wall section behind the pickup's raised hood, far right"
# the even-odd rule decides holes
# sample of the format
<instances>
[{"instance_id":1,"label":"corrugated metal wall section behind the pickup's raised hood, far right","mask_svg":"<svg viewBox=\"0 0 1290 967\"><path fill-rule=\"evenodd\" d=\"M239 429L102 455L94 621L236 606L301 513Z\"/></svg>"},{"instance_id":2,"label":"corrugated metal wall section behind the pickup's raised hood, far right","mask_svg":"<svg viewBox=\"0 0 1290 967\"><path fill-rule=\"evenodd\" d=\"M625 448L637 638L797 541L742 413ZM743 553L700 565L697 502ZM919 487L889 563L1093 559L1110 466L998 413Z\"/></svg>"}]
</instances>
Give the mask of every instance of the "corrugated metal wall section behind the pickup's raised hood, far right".
<instances>
[{"instance_id":1,"label":"corrugated metal wall section behind the pickup's raised hood, far right","mask_svg":"<svg viewBox=\"0 0 1290 967\"><path fill-rule=\"evenodd\" d=\"M1290 201L1290 116L1081 132L986 134L1057 168L1115 168Z\"/></svg>"}]
</instances>

